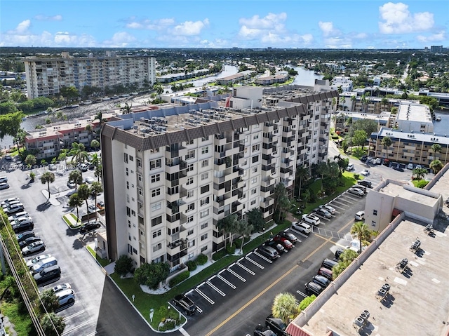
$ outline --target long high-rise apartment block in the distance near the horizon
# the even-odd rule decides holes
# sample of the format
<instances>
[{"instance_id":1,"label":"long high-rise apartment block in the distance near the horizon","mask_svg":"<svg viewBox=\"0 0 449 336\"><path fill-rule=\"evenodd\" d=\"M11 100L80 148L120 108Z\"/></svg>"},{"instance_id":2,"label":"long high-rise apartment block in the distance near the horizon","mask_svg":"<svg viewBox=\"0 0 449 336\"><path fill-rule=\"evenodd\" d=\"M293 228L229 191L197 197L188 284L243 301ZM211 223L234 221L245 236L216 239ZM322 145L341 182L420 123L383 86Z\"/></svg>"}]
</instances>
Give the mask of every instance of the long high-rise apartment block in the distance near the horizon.
<instances>
[{"instance_id":1,"label":"long high-rise apartment block in the distance near the horizon","mask_svg":"<svg viewBox=\"0 0 449 336\"><path fill-rule=\"evenodd\" d=\"M25 58L28 98L58 95L63 86L97 88L117 84L126 86L156 81L155 59L151 56L120 56L107 51L104 57L73 58L64 52L61 58Z\"/></svg>"}]
</instances>

